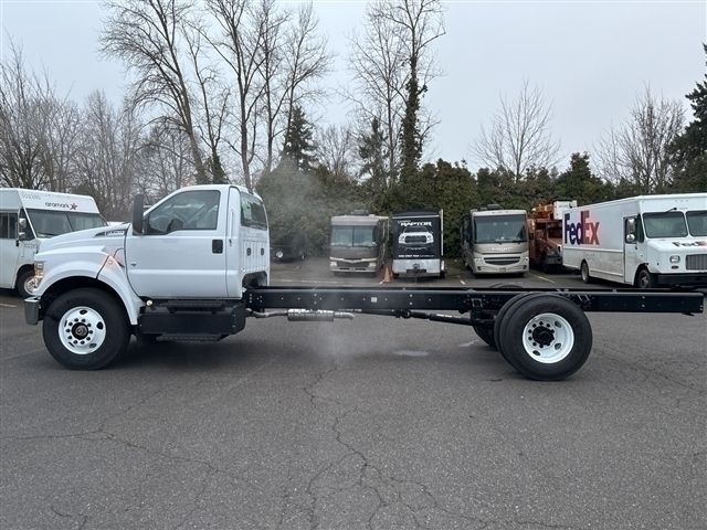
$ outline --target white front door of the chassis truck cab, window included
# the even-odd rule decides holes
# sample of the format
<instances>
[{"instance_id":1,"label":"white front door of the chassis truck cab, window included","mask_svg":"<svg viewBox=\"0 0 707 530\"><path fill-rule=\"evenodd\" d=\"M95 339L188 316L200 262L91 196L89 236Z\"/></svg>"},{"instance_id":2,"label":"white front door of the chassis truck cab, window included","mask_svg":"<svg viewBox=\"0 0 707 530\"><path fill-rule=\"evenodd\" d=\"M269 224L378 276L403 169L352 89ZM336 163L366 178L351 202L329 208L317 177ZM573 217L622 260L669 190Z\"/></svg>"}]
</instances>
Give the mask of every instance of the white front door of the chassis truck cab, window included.
<instances>
[{"instance_id":1,"label":"white front door of the chassis truck cab, window included","mask_svg":"<svg viewBox=\"0 0 707 530\"><path fill-rule=\"evenodd\" d=\"M125 254L135 293L152 298L226 296L226 198L184 190L152 209L144 234L128 233Z\"/></svg>"}]
</instances>

